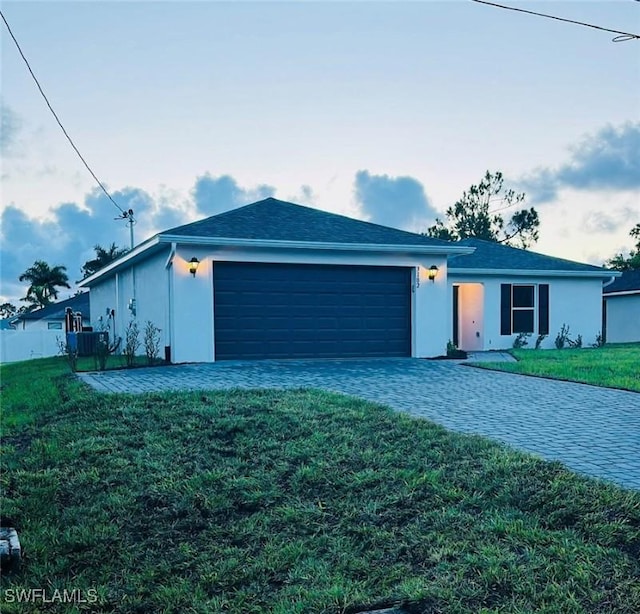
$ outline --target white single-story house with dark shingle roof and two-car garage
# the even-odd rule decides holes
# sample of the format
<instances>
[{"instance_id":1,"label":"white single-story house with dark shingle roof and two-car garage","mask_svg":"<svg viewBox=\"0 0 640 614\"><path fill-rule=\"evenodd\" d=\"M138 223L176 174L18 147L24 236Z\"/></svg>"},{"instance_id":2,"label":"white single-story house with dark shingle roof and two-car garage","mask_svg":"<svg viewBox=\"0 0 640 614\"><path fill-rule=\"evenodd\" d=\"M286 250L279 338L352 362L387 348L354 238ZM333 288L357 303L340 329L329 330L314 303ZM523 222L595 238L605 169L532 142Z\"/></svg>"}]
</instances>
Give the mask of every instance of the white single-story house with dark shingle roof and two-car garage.
<instances>
[{"instance_id":1,"label":"white single-story house with dark shingle roof and two-car garage","mask_svg":"<svg viewBox=\"0 0 640 614\"><path fill-rule=\"evenodd\" d=\"M150 321L173 362L433 357L476 332L482 345L469 349L499 349L531 318L533 332L566 322L595 337L610 271L522 250L527 270L515 255L474 269L465 259L484 258L482 247L267 198L161 232L80 286L91 288L94 327L111 314L124 338L131 318Z\"/></svg>"}]
</instances>

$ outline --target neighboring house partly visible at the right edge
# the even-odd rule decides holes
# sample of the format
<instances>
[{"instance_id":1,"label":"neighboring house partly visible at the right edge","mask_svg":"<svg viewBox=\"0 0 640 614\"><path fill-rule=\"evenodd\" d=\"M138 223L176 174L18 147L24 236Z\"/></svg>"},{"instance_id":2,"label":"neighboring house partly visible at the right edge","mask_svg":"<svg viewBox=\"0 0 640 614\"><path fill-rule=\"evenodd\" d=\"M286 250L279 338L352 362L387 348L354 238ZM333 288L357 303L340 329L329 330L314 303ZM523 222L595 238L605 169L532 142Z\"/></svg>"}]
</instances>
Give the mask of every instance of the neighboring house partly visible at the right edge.
<instances>
[{"instance_id":1,"label":"neighboring house partly visible at the right edge","mask_svg":"<svg viewBox=\"0 0 640 614\"><path fill-rule=\"evenodd\" d=\"M608 343L640 341L640 270L624 271L603 291Z\"/></svg>"}]
</instances>

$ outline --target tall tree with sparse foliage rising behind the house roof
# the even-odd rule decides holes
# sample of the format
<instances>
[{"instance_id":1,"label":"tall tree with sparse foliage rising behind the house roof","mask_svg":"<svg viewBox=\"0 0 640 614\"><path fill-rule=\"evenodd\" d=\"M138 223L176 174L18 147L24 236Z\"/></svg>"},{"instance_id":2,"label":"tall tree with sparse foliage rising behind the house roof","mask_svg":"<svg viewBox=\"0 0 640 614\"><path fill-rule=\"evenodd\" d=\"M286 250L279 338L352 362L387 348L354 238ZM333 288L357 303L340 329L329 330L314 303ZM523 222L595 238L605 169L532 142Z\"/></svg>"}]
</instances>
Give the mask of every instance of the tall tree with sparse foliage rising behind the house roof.
<instances>
[{"instance_id":1,"label":"tall tree with sparse foliage rising behind the house roof","mask_svg":"<svg viewBox=\"0 0 640 614\"><path fill-rule=\"evenodd\" d=\"M523 203L525 194L503 188L502 173L487 171L478 185L447 209L446 222L436 219L425 234L448 241L476 237L527 249L538 240L538 212L533 207L521 209L505 221L500 212Z\"/></svg>"}]
</instances>

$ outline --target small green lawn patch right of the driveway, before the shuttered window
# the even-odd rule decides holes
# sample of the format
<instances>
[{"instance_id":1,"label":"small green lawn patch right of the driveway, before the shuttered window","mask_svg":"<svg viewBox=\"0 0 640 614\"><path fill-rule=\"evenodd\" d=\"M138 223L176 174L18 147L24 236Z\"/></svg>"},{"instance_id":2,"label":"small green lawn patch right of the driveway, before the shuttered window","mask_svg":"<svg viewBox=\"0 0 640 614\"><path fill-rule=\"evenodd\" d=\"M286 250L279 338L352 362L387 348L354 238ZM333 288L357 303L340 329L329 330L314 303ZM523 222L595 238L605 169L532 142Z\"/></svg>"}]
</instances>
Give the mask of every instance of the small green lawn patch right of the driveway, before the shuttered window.
<instances>
[{"instance_id":1,"label":"small green lawn patch right of the driveway, before the shuttered window","mask_svg":"<svg viewBox=\"0 0 640 614\"><path fill-rule=\"evenodd\" d=\"M601 348L511 350L518 362L477 366L640 392L640 343Z\"/></svg>"}]
</instances>

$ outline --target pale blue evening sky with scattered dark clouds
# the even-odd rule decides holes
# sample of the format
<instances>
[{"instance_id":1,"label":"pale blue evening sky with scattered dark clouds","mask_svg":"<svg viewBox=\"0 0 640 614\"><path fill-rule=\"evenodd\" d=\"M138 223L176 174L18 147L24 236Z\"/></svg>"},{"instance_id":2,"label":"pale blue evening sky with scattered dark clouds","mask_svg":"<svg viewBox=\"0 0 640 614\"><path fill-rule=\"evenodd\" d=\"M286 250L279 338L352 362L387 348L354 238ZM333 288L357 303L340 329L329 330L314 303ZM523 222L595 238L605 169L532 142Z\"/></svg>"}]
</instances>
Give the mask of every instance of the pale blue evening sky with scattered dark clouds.
<instances>
[{"instance_id":1,"label":"pale blue evening sky with scattered dark clouds","mask_svg":"<svg viewBox=\"0 0 640 614\"><path fill-rule=\"evenodd\" d=\"M504 2L514 5L514 2ZM640 33L640 3L518 6ZM601 264L640 221L640 41L441 2L2 2L136 241L275 195L424 230L486 170L537 251ZM128 244L2 32L2 300Z\"/></svg>"}]
</instances>

